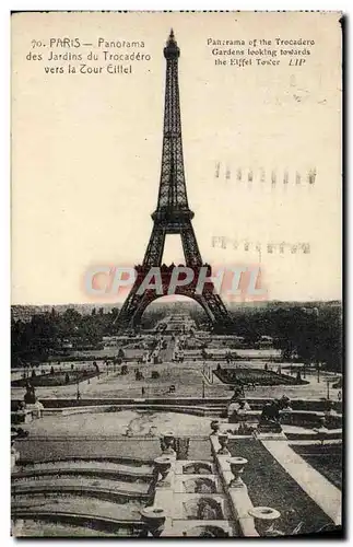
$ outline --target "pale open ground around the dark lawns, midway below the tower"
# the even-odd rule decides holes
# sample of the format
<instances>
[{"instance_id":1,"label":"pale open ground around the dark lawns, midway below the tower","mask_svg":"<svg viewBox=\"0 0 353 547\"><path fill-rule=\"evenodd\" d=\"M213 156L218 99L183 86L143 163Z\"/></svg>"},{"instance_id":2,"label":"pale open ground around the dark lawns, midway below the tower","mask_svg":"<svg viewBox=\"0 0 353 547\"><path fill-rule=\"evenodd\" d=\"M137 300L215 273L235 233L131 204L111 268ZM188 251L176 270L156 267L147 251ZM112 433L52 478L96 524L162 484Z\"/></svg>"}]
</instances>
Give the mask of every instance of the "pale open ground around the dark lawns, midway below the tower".
<instances>
[{"instance_id":1,"label":"pale open ground around the dark lawns, midway below the tower","mask_svg":"<svg viewBox=\"0 0 353 547\"><path fill-rule=\"evenodd\" d=\"M242 361L243 366L258 366L251 361ZM223 364L222 364L223 365ZM205 361L205 369L211 366L215 369L216 363ZM130 362L128 364L129 373L121 375L119 372L114 372L113 366L106 371L102 366L99 377L94 377L80 382L81 398L119 398L119 397L142 397L142 387L144 388L143 397L165 397L179 398L183 397L230 397L230 386L223 384L213 374L213 383L203 375L203 361L192 361L184 363L163 363L163 364L138 364ZM236 368L236 364L230 364L227 368ZM142 372L144 379L137 381L134 377L134 369ZM274 368L276 370L276 368ZM157 371L160 377L152 380L152 371ZM332 377L332 375L331 375ZM257 386L255 391L247 394L255 397L281 397L284 393L291 398L322 398L327 396L327 383L325 376L317 380L316 374L307 374L307 385L299 386ZM175 385L175 393L169 393L170 385ZM75 398L77 385L63 385L59 387L37 387L36 395L39 399L45 398ZM330 388L330 397L337 399L339 389ZM11 397L13 400L23 400L25 389L21 387L11 388Z\"/></svg>"}]
</instances>

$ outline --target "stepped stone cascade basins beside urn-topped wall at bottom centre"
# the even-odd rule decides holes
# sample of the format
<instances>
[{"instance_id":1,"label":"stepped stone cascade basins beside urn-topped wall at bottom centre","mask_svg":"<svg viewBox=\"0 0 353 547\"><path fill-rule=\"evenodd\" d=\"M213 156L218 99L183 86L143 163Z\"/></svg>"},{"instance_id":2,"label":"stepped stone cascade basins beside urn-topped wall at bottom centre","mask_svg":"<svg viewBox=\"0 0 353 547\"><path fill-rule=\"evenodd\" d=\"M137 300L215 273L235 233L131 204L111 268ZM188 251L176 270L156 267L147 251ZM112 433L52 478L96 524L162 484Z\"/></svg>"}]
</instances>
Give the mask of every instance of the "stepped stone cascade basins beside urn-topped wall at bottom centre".
<instances>
[{"instance_id":1,"label":"stepped stone cascade basins beside urn-topped wall at bottom centre","mask_svg":"<svg viewBox=\"0 0 353 547\"><path fill-rule=\"evenodd\" d=\"M154 459L153 500L141 512L148 534L153 537L237 535L233 519L228 520L227 498L221 478L214 474L215 466L202 461L176 461L174 445L174 433L164 433L162 455ZM156 524L158 514L163 514L163 523L151 524L151 513L155 513Z\"/></svg>"}]
</instances>

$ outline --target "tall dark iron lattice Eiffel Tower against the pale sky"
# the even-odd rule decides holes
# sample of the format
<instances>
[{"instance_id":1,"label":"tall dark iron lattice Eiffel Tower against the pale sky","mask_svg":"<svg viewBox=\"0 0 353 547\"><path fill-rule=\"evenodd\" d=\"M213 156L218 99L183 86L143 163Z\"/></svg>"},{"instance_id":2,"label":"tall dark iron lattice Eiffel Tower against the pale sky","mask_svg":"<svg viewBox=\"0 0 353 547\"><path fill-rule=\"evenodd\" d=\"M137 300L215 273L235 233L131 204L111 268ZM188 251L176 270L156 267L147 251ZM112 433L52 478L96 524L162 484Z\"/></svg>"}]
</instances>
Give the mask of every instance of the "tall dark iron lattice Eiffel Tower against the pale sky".
<instances>
[{"instance_id":1,"label":"tall dark iron lattice Eiffel Tower against the pale sky","mask_svg":"<svg viewBox=\"0 0 353 547\"><path fill-rule=\"evenodd\" d=\"M161 294L157 294L154 289L146 289L142 294L137 293L151 267L161 267L163 294L167 294L174 268L174 265L162 266L165 236L167 234L180 235L185 265L192 268L196 281L201 266L208 266L208 276L211 275L211 267L202 263L191 223L193 212L189 208L186 191L178 84L179 56L180 49L172 30L164 48L166 83L162 170L157 207L151 216L153 229L143 263L141 266L136 266L137 278L134 284L116 319L119 331L137 327L146 306L153 300L161 298ZM203 307L214 329L230 328L232 321L220 295L214 292L213 283L208 281L201 294L196 294L195 291L196 282L185 287L177 287L176 293L197 301Z\"/></svg>"}]
</instances>

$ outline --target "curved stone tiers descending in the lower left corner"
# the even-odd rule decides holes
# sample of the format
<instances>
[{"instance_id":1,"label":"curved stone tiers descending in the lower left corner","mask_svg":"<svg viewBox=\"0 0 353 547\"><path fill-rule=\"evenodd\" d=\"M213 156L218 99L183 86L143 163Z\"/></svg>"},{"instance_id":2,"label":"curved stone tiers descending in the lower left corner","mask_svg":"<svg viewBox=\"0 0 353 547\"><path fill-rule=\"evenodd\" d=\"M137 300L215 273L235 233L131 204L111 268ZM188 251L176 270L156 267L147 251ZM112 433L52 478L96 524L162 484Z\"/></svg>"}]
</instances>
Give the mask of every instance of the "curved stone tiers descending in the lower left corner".
<instances>
[{"instance_id":1,"label":"curved stone tiers descending in the lower left corner","mask_svg":"<svg viewBox=\"0 0 353 547\"><path fill-rule=\"evenodd\" d=\"M123 461L31 462L12 470L12 533L23 537L140 536L151 501L153 467ZM51 532L50 532L51 531ZM86 533L87 531L87 533ZM95 531L95 534L93 533ZM28 532L28 534L27 534Z\"/></svg>"}]
</instances>

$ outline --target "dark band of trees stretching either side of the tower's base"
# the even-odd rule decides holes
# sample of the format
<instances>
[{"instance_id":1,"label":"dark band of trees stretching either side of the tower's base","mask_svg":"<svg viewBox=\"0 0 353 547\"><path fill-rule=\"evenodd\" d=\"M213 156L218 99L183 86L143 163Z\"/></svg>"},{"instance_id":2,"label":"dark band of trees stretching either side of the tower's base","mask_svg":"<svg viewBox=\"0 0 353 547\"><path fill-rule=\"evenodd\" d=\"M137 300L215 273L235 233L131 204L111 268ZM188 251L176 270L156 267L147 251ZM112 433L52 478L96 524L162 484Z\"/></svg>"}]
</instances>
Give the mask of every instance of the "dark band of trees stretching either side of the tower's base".
<instances>
[{"instance_id":1,"label":"dark band of trees stretching either side of the tower's base","mask_svg":"<svg viewBox=\"0 0 353 547\"><path fill-rule=\"evenodd\" d=\"M192 307L198 325L204 322L204 312ZM69 309L58 314L33 315L31 322L11 324L12 362L43 361L49 354L67 347L93 349L102 345L103 336L114 334L117 311L104 313L93 310L91 315ZM169 311L163 306L149 309L142 318L143 328L153 328ZM271 336L285 361L298 359L306 363L320 363L339 371L342 365L342 312L339 305L320 304L304 307L278 305L238 309L231 312L233 334L243 336L246 345L255 345L261 336Z\"/></svg>"}]
</instances>

